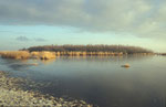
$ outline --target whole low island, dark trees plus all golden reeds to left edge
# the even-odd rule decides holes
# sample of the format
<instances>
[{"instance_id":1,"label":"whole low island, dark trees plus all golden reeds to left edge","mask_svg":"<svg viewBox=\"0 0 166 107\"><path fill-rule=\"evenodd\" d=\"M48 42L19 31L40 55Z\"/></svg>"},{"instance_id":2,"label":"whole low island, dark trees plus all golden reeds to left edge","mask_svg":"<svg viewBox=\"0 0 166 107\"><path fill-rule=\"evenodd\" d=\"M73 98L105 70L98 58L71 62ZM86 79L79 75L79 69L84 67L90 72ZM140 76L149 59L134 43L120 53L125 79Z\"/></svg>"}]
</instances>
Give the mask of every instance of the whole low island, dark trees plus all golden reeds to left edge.
<instances>
[{"instance_id":1,"label":"whole low island, dark trees plus all golden reeds to left edge","mask_svg":"<svg viewBox=\"0 0 166 107\"><path fill-rule=\"evenodd\" d=\"M128 54L152 55L153 51L126 45L43 45L20 51L0 52L3 58L40 58L50 60L56 56L122 56Z\"/></svg>"}]
</instances>

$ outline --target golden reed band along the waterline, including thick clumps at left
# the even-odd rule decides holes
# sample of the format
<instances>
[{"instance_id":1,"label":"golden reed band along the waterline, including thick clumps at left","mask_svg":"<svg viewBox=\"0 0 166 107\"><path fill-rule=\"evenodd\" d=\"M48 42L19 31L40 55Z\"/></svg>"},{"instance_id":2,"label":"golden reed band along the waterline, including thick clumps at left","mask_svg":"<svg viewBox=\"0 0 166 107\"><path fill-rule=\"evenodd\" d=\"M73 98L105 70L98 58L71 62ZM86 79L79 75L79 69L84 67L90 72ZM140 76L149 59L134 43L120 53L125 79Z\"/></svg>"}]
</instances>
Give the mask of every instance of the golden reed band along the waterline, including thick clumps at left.
<instances>
[{"instance_id":1,"label":"golden reed band along the waterline, including thick clumps at left","mask_svg":"<svg viewBox=\"0 0 166 107\"><path fill-rule=\"evenodd\" d=\"M153 53L135 53L133 55L152 55ZM29 51L9 51L0 52L1 57L3 58L15 58L15 60L27 60L27 58L38 58L38 60L51 60L58 56L123 56L127 53L123 52L29 52Z\"/></svg>"}]
</instances>

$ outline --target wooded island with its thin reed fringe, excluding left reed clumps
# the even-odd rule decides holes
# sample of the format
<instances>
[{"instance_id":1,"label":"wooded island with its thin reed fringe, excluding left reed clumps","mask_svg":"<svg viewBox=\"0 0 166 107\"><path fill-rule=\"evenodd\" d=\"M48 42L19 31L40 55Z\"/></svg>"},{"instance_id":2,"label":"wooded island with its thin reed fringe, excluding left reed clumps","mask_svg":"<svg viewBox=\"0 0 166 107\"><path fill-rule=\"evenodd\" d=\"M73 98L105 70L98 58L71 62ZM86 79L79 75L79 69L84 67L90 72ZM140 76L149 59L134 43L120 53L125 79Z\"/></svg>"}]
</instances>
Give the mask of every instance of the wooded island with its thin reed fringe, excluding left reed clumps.
<instances>
[{"instance_id":1,"label":"wooded island with its thin reed fringe, excluding left reed clumps","mask_svg":"<svg viewBox=\"0 0 166 107\"><path fill-rule=\"evenodd\" d=\"M123 54L152 54L153 51L139 46L126 45L43 45L24 49L30 52L49 51L55 55L123 55Z\"/></svg>"}]
</instances>

